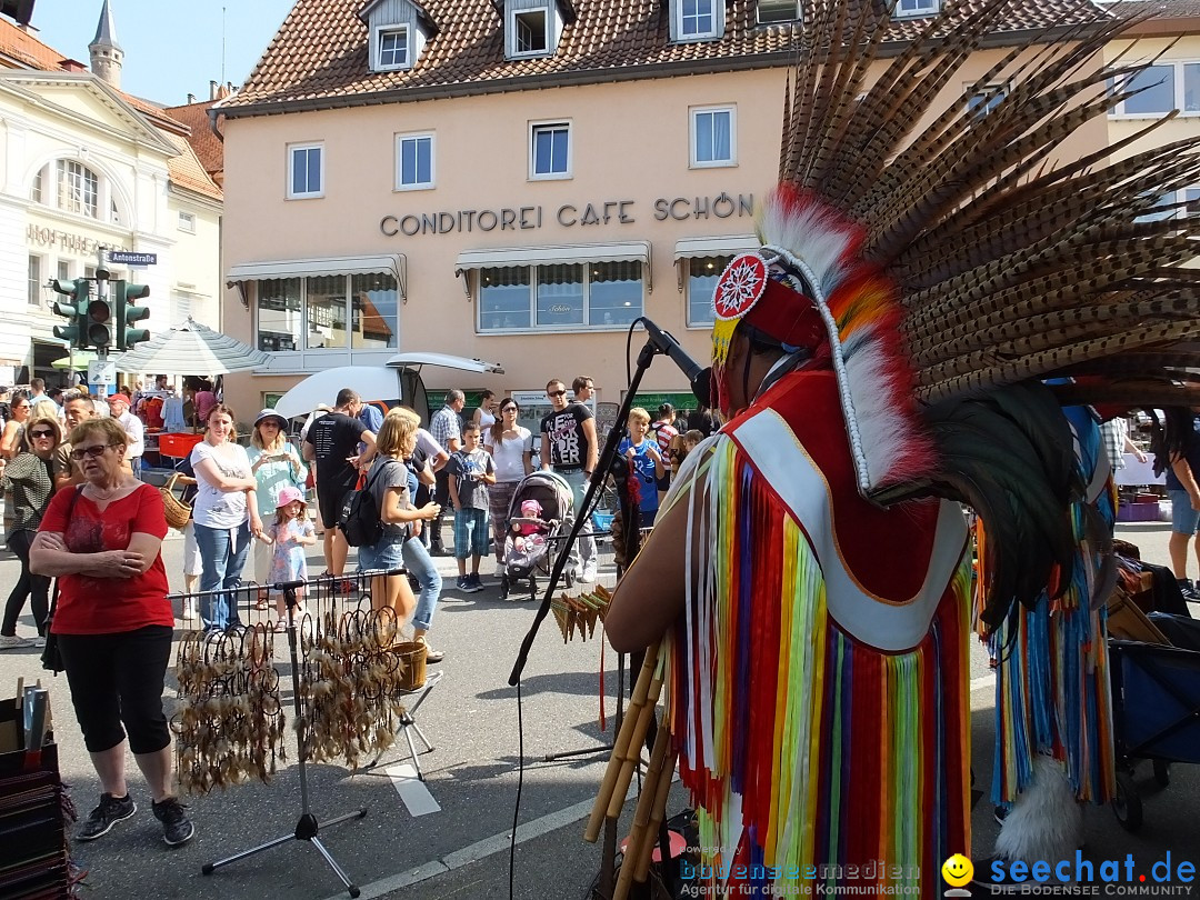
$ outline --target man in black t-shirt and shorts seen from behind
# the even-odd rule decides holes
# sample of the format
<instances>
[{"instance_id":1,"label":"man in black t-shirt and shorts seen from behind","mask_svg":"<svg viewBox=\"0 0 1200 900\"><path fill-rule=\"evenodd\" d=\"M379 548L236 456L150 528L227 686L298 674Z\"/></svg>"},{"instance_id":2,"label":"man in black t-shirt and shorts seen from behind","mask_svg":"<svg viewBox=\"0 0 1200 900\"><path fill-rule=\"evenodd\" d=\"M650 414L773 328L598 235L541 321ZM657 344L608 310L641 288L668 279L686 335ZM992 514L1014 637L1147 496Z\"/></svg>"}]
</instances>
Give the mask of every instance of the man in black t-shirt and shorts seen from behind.
<instances>
[{"instance_id":1,"label":"man in black t-shirt and shorts seen from behind","mask_svg":"<svg viewBox=\"0 0 1200 900\"><path fill-rule=\"evenodd\" d=\"M304 458L317 464L317 508L325 526L325 570L331 575L342 574L350 550L337 529L337 516L358 482L359 469L368 467L376 455L374 433L358 419L361 407L359 395L342 388L337 406L308 427L304 440ZM361 454L359 443L366 445Z\"/></svg>"}]
</instances>

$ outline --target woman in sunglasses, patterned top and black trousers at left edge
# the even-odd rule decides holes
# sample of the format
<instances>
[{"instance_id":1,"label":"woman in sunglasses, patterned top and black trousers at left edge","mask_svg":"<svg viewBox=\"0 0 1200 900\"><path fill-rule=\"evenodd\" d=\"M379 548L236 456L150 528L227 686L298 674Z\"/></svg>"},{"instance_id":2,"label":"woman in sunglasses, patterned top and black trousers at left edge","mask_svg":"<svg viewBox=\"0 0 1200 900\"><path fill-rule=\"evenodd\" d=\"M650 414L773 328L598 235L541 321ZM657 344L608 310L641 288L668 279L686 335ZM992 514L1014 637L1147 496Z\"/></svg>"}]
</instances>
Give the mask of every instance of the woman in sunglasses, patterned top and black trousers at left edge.
<instances>
[{"instance_id":1,"label":"woman in sunglasses, patterned top and black trousers at left edge","mask_svg":"<svg viewBox=\"0 0 1200 900\"><path fill-rule=\"evenodd\" d=\"M37 636L46 637L50 580L30 572L29 547L54 494L54 449L61 440L62 430L58 419L34 419L25 424L22 452L10 463L0 460L5 496L10 496L11 491L12 498L11 503L5 504L6 518L12 520L12 526L5 528L5 534L8 550L20 559L20 577L8 594L4 610L0 650L30 646L24 637L17 636L17 618L25 606L26 596L30 598Z\"/></svg>"}]
</instances>

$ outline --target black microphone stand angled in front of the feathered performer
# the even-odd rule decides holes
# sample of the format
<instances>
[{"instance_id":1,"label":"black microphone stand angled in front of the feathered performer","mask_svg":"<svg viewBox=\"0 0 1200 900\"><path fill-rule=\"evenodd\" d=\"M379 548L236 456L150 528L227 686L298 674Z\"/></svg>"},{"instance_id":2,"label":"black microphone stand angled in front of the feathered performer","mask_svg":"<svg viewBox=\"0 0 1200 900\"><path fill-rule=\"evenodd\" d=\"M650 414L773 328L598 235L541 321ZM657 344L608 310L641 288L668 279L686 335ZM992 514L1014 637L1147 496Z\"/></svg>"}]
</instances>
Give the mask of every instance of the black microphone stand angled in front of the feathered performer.
<instances>
[{"instance_id":1,"label":"black microphone stand angled in front of the feathered performer","mask_svg":"<svg viewBox=\"0 0 1200 900\"><path fill-rule=\"evenodd\" d=\"M647 319L642 319L644 324ZM650 329L647 329L650 330ZM575 517L575 522L571 526L571 533L566 538L563 552L560 552L556 559L554 565L550 572L550 583L546 586L546 593L541 599L541 606L538 607L538 613L534 616L533 625L529 626L528 634L526 634L524 640L521 642L521 649L517 653L517 660L512 666L512 672L509 676L509 686L515 688L517 682L521 680L521 673L524 671L526 664L529 660L529 650L533 648L533 642L538 637L538 631L541 628L541 623L550 614L551 602L554 596L554 590L558 589L558 582L563 577L563 571L566 568L568 558L570 557L570 548L578 540L580 533L583 530L584 522L587 521L587 512L592 509L596 494L600 492L600 485L608 476L608 472L612 469L612 463L617 458L617 448L620 445L620 438L624 434L624 422L629 419L629 410L634 408L634 396L637 394L637 389L642 384L642 378L649 370L650 364L654 362L654 358L659 355L670 355L667 348L661 341L656 341L655 332L659 329L655 326L650 331L650 338L642 347L641 352L637 354L637 367L634 371L634 377L629 382L629 388L625 391L625 400L622 401L620 409L617 412L617 422L613 425L612 431L608 432L608 439L605 443L604 450L600 454L600 458L596 463L595 470L592 473L592 478L588 481L587 493L583 496L582 509L580 509L578 515ZM628 528L637 527L637 523L629 523ZM613 724L613 733L620 732L622 719L624 718L624 690L622 684L624 680L625 672L625 654L617 654L617 670L618 670L618 696L617 696L617 715ZM653 733L653 730L652 730ZM648 738L653 739L653 738ZM600 746L593 750L578 751L582 754L587 752L599 752L610 748ZM574 755L574 754L572 754ZM559 756L565 756L565 754L559 754ZM665 832L665 829L664 829ZM660 835L661 839L662 835ZM670 854L665 850L670 845L660 840L662 850L664 868L666 868ZM605 820L605 834L604 834L604 850L601 853L600 863L600 895L604 898L611 898L614 888L613 868L617 858L617 822L614 820Z\"/></svg>"}]
</instances>

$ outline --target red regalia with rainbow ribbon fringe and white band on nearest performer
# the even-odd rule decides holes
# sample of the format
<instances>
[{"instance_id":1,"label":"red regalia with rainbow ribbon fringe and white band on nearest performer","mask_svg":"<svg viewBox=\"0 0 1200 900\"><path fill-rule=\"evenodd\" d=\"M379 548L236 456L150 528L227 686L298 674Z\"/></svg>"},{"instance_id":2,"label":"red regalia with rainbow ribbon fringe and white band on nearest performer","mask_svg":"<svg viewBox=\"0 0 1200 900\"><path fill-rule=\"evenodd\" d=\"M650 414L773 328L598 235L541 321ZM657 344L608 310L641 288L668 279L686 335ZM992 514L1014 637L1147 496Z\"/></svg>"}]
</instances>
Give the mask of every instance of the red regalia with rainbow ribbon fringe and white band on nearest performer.
<instances>
[{"instance_id":1,"label":"red regalia with rainbow ribbon fringe and white band on nearest performer","mask_svg":"<svg viewBox=\"0 0 1200 900\"><path fill-rule=\"evenodd\" d=\"M750 896L932 895L970 847L966 526L863 500L840 415L832 371L784 376L666 500L709 574L671 632L668 721L710 881Z\"/></svg>"}]
</instances>

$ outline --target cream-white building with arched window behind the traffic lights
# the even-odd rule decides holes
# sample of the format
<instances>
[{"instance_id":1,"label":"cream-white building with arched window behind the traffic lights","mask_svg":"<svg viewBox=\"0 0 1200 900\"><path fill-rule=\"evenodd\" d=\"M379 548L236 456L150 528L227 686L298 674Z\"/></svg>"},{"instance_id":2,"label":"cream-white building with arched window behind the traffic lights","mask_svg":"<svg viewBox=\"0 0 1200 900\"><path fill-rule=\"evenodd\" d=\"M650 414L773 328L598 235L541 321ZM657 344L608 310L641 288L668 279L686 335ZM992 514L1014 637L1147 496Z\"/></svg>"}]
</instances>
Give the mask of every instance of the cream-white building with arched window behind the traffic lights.
<instances>
[{"instance_id":1,"label":"cream-white building with arched window behind the traffic lights","mask_svg":"<svg viewBox=\"0 0 1200 900\"><path fill-rule=\"evenodd\" d=\"M154 253L110 265L150 287L146 328L188 314L218 324L222 194L188 128L120 90L122 54L104 4L95 71L0 20L0 383L65 382L49 283L95 275L100 247ZM85 366L84 366L85 368Z\"/></svg>"}]
</instances>

